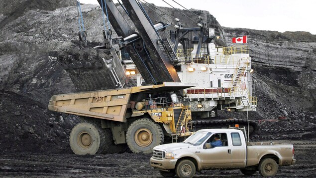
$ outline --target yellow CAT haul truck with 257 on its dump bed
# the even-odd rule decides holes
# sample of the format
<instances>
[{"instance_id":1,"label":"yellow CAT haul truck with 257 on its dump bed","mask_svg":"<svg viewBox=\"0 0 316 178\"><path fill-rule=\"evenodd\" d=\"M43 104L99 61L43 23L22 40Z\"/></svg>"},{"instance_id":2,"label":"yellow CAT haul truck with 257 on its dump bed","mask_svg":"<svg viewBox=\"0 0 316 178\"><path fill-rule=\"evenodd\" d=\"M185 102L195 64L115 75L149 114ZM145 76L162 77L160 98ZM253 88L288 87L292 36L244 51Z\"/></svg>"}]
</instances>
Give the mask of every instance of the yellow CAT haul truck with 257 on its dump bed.
<instances>
[{"instance_id":1,"label":"yellow CAT haul truck with 257 on its dump bed","mask_svg":"<svg viewBox=\"0 0 316 178\"><path fill-rule=\"evenodd\" d=\"M193 84L160 85L54 95L48 109L82 116L70 133L77 155L94 155L127 144L134 153L152 153L164 137L192 134L191 110L174 92Z\"/></svg>"}]
</instances>

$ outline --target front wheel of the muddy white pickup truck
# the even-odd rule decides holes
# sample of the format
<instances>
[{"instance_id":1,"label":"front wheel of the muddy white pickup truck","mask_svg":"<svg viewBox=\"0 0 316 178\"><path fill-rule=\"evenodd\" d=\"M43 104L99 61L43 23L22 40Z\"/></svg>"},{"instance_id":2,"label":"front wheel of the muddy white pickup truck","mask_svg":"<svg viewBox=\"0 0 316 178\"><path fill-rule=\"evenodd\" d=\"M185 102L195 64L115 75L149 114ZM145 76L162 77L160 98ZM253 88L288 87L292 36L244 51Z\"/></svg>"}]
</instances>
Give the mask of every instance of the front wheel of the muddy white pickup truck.
<instances>
[{"instance_id":1,"label":"front wheel of the muddy white pickup truck","mask_svg":"<svg viewBox=\"0 0 316 178\"><path fill-rule=\"evenodd\" d=\"M179 178L193 178L195 172L196 167L190 160L182 160L177 164L176 173Z\"/></svg>"}]
</instances>

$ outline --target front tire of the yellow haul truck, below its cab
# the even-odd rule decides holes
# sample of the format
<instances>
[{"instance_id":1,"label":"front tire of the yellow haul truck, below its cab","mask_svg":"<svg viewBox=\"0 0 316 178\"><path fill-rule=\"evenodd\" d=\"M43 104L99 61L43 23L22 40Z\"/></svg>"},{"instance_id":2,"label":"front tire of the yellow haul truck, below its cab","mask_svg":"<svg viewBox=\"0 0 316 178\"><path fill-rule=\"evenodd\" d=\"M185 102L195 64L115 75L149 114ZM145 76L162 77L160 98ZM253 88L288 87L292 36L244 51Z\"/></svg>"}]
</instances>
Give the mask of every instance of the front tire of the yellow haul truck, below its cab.
<instances>
[{"instance_id":1,"label":"front tire of the yellow haul truck, below its cab","mask_svg":"<svg viewBox=\"0 0 316 178\"><path fill-rule=\"evenodd\" d=\"M127 129L126 143L134 153L151 154L152 149L163 142L163 130L151 119L138 119Z\"/></svg>"}]
</instances>

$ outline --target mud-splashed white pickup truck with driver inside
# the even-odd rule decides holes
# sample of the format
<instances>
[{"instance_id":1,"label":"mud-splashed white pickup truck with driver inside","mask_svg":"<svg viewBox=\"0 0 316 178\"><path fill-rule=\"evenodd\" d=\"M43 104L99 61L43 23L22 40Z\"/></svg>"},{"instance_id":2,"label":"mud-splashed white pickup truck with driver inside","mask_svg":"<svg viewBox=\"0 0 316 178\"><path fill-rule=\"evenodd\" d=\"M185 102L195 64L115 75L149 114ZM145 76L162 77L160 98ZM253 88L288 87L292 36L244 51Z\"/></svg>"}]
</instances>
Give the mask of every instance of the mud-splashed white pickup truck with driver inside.
<instances>
[{"instance_id":1,"label":"mud-splashed white pickup truck with driver inside","mask_svg":"<svg viewBox=\"0 0 316 178\"><path fill-rule=\"evenodd\" d=\"M215 134L222 146L212 148ZM293 145L247 143L244 132L237 129L199 130L182 143L154 147L150 159L150 165L163 177L180 178L192 178L196 171L211 169L240 169L244 175L259 171L261 176L270 177L277 174L278 166L295 162Z\"/></svg>"}]
</instances>

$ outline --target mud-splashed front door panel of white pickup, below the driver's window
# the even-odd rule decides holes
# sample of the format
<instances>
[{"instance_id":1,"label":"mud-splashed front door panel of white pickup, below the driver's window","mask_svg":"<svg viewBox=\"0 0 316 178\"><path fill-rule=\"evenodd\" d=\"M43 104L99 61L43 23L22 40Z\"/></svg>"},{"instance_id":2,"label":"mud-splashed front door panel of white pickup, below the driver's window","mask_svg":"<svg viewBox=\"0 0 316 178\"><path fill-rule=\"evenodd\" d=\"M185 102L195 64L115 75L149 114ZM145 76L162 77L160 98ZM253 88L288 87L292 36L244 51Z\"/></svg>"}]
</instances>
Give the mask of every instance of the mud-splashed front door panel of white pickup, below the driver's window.
<instances>
[{"instance_id":1,"label":"mud-splashed front door panel of white pickup, below the driver's window","mask_svg":"<svg viewBox=\"0 0 316 178\"><path fill-rule=\"evenodd\" d=\"M209 149L202 148L199 153L197 152L196 155L200 157L204 169L231 167L231 144Z\"/></svg>"}]
</instances>

